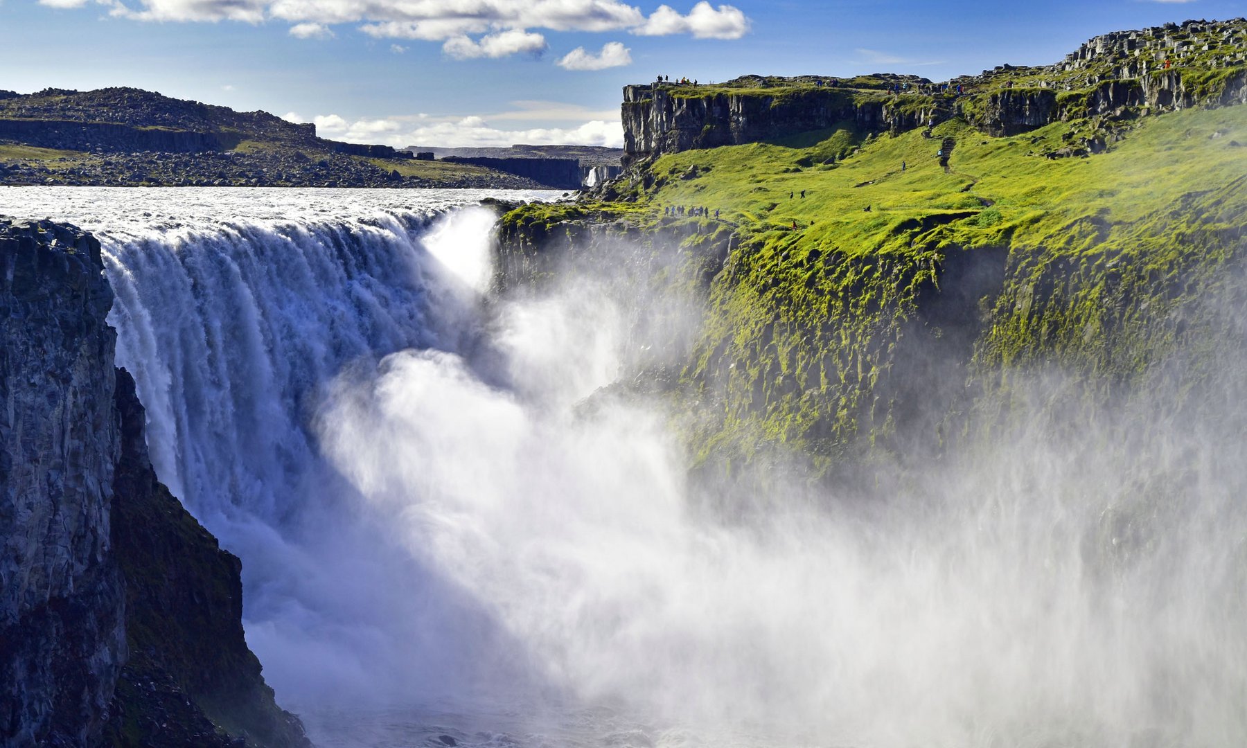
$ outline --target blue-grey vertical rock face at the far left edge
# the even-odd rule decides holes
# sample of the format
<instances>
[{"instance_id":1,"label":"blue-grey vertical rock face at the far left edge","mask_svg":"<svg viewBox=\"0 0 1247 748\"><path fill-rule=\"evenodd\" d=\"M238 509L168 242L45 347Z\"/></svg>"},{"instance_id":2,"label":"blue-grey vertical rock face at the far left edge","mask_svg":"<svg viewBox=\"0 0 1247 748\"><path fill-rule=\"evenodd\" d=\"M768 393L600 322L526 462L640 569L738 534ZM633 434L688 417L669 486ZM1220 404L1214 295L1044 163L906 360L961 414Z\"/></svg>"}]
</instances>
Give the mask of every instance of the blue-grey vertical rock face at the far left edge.
<instances>
[{"instance_id":1,"label":"blue-grey vertical rock face at the far left edge","mask_svg":"<svg viewBox=\"0 0 1247 748\"><path fill-rule=\"evenodd\" d=\"M125 658L100 244L0 219L0 743L97 736Z\"/></svg>"}]
</instances>

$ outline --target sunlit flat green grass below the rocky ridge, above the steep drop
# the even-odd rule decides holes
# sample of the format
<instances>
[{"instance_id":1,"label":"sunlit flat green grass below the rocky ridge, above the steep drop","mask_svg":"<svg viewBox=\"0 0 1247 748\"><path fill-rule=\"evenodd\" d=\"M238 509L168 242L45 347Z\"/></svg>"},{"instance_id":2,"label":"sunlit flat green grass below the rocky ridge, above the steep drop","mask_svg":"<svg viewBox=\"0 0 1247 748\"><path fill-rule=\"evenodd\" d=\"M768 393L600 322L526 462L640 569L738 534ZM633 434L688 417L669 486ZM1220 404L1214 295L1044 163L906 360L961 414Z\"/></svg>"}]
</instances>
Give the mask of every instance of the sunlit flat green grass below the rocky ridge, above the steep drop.
<instances>
[{"instance_id":1,"label":"sunlit flat green grass below the rocky ridge, above the steep drop","mask_svg":"<svg viewBox=\"0 0 1247 748\"><path fill-rule=\"evenodd\" d=\"M895 243L895 226L907 218L979 211L990 202L999 219L944 226L940 241L976 247L1009 238L1055 248L1069 246L1065 228L1071 221L1137 221L1201 183L1221 185L1247 173L1247 148L1230 146L1247 143L1247 122L1237 107L1148 118L1110 153L1092 158L1036 155L1076 130L1077 123L1059 122L991 138L954 121L936 127L932 138L910 131L862 142L843 128L819 131L816 136L826 137L807 147L752 143L685 151L660 158L651 170L657 187L637 197L653 216L668 204L718 208L748 233L791 232L796 221L803 247L858 252L887 249ZM944 137L956 138L950 173L936 157ZM811 140L796 136L791 142ZM845 158L859 142L860 152ZM834 166L824 163L832 153L842 155ZM681 178L690 170L697 176ZM870 212L863 214L867 207Z\"/></svg>"}]
</instances>

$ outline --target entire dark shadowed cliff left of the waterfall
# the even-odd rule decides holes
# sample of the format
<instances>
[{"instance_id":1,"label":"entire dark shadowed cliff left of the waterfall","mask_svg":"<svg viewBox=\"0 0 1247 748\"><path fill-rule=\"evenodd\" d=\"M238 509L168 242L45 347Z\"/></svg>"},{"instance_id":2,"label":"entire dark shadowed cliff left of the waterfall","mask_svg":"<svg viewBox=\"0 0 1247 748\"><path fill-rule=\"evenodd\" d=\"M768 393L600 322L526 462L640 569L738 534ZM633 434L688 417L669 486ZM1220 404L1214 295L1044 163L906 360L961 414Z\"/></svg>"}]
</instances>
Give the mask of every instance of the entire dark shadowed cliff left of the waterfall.
<instances>
[{"instance_id":1,"label":"entire dark shadowed cliff left of the waterfall","mask_svg":"<svg viewBox=\"0 0 1247 748\"><path fill-rule=\"evenodd\" d=\"M156 480L102 269L89 234L0 219L0 744L306 746L238 560Z\"/></svg>"}]
</instances>

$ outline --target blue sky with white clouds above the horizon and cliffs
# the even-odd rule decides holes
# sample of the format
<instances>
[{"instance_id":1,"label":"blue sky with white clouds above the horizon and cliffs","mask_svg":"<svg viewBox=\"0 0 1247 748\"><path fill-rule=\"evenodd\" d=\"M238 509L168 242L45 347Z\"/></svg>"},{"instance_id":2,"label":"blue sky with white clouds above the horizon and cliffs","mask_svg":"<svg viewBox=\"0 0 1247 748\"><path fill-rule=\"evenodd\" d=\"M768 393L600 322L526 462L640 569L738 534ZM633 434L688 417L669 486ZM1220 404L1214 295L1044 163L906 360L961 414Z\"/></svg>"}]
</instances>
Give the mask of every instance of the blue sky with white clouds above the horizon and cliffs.
<instances>
[{"instance_id":1,"label":"blue sky with white clouds above the horizon and cliffs","mask_svg":"<svg viewBox=\"0 0 1247 748\"><path fill-rule=\"evenodd\" d=\"M135 86L398 147L622 145L657 75L1044 65L1247 0L0 0L0 89Z\"/></svg>"}]
</instances>

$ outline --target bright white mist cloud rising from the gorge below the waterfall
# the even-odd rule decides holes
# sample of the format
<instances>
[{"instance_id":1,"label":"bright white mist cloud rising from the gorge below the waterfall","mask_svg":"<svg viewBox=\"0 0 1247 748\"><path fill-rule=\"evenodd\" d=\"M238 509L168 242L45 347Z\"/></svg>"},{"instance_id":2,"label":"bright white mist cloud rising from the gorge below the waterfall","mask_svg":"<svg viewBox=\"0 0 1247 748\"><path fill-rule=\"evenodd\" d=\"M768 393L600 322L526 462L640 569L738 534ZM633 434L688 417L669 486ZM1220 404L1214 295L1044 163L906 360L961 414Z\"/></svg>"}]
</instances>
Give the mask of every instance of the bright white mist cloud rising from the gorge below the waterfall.
<instances>
[{"instance_id":1,"label":"bright white mist cloud rising from the gorge below the waterfall","mask_svg":"<svg viewBox=\"0 0 1247 748\"><path fill-rule=\"evenodd\" d=\"M1195 390L1166 374L1180 360L1112 405L1059 370L1016 373L1013 425L898 464L904 490L849 499L769 475L791 485L705 511L665 403L594 396L632 374L637 289L577 273L496 310L505 378L403 352L339 383L318 420L368 511L567 703L676 742L1247 733L1240 309L1211 309L1225 360ZM716 502L757 511L742 526Z\"/></svg>"}]
</instances>

